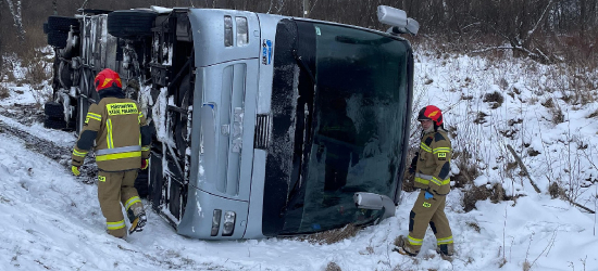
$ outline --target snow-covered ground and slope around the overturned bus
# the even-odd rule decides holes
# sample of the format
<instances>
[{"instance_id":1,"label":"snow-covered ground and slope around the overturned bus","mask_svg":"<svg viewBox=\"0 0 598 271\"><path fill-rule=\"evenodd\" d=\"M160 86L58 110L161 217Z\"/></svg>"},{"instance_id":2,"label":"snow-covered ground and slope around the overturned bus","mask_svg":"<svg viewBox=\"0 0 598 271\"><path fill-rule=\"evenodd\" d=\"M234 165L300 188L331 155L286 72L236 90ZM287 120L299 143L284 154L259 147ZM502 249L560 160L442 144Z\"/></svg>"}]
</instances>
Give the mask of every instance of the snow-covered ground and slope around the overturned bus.
<instances>
[{"instance_id":1,"label":"snow-covered ground and slope around the overturned bus","mask_svg":"<svg viewBox=\"0 0 598 271\"><path fill-rule=\"evenodd\" d=\"M0 270L326 270L329 262L344 271L598 270L596 216L548 194L550 182L557 181L573 189L570 195L577 203L597 209L597 103L565 103L563 95L574 94L573 87L549 66L509 57L489 62L433 55L416 57L414 111L431 103L445 109L447 125L457 128L456 152L466 150L469 164L481 168L474 183L500 183L516 196L498 204L479 201L464 212L464 192L453 189L447 215L457 255L450 261L434 251L431 230L418 257L391 250L394 240L408 233L415 192L403 193L396 217L331 245L292 238L190 240L151 211L144 232L127 241L113 238L104 230L96 185L0 129ZM21 91L3 86L11 95L0 100L0 125L59 146L74 143L73 133L7 117L14 103L34 104L35 98L23 91L27 86ZM495 91L503 102L493 109L484 100ZM596 91L588 96L597 98ZM553 99L551 108L562 111L562 122L553 121L553 109L545 106L548 99ZM479 119L478 112L487 116ZM507 166L514 160L507 144L522 157L541 193Z\"/></svg>"}]
</instances>

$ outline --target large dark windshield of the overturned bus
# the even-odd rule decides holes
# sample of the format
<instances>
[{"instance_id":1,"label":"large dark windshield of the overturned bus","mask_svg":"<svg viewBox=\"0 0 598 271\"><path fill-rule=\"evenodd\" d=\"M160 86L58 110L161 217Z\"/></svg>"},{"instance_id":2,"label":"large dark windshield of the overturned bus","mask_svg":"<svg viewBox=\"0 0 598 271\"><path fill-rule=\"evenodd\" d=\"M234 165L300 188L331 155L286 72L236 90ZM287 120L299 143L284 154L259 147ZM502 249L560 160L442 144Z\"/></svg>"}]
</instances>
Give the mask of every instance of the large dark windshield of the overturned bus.
<instances>
[{"instance_id":1,"label":"large dark windshield of the overturned bus","mask_svg":"<svg viewBox=\"0 0 598 271\"><path fill-rule=\"evenodd\" d=\"M311 76L299 76L298 85L315 87L306 116L311 149L300 183L291 185L298 192L289 193L289 204L298 207L285 214L283 233L289 234L369 223L382 215L358 209L353 194L393 197L398 189L410 96L407 41L340 25L301 24L298 36L313 47L303 51L314 53L303 57L311 61L302 64Z\"/></svg>"}]
</instances>

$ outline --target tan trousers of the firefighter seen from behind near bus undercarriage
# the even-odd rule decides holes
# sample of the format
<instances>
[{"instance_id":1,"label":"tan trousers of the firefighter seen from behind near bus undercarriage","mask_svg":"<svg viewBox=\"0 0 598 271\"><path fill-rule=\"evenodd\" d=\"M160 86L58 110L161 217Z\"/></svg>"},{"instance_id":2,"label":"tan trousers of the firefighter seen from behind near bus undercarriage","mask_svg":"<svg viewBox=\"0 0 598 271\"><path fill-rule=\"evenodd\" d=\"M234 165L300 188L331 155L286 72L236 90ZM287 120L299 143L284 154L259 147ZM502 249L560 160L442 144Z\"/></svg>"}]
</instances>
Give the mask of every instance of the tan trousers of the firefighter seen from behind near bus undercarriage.
<instances>
[{"instance_id":1,"label":"tan trousers of the firefighter seen from behind near bus undercarriage","mask_svg":"<svg viewBox=\"0 0 598 271\"><path fill-rule=\"evenodd\" d=\"M126 223L121 204L125 210L138 215L144 211L144 204L134 186L137 179L137 169L107 172L98 172L98 199L102 215L105 217L108 233L115 237L125 237Z\"/></svg>"}]
</instances>

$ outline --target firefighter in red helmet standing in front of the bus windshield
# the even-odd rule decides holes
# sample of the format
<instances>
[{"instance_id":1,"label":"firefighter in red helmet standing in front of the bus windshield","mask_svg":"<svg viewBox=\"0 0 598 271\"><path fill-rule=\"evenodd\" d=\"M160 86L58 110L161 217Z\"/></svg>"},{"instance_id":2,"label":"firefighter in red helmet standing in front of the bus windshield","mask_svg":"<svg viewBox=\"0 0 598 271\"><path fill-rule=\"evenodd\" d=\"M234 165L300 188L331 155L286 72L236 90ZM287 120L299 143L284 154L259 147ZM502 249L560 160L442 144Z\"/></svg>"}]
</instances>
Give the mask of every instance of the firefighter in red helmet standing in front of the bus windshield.
<instances>
[{"instance_id":1,"label":"firefighter in red helmet standing in front of the bus windshield","mask_svg":"<svg viewBox=\"0 0 598 271\"><path fill-rule=\"evenodd\" d=\"M415 173L415 188L421 189L409 215L409 235L399 236L397 250L403 255L420 253L427 225L436 235L436 251L443 256L454 253L452 232L445 215L447 194L450 192L451 144L443 126L443 113L434 105L420 111L422 142L411 170Z\"/></svg>"}]
</instances>

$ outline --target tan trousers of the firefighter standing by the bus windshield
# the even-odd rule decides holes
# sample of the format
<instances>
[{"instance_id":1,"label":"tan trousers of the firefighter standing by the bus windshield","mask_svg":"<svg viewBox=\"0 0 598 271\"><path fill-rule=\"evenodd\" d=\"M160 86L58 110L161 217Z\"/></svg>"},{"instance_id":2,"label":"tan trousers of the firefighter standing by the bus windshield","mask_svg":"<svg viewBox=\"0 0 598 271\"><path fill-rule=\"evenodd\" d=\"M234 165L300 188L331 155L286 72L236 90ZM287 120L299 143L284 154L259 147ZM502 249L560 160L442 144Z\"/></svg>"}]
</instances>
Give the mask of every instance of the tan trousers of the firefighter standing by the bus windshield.
<instances>
[{"instance_id":1,"label":"tan trousers of the firefighter standing by the bus windshield","mask_svg":"<svg viewBox=\"0 0 598 271\"><path fill-rule=\"evenodd\" d=\"M445 215L447 196L434 195L433 198L425 199L424 194L425 190L421 190L411 214L409 214L409 236L406 246L408 250L414 254L419 253L429 224L436 235L437 251L452 255L452 232Z\"/></svg>"}]
</instances>

